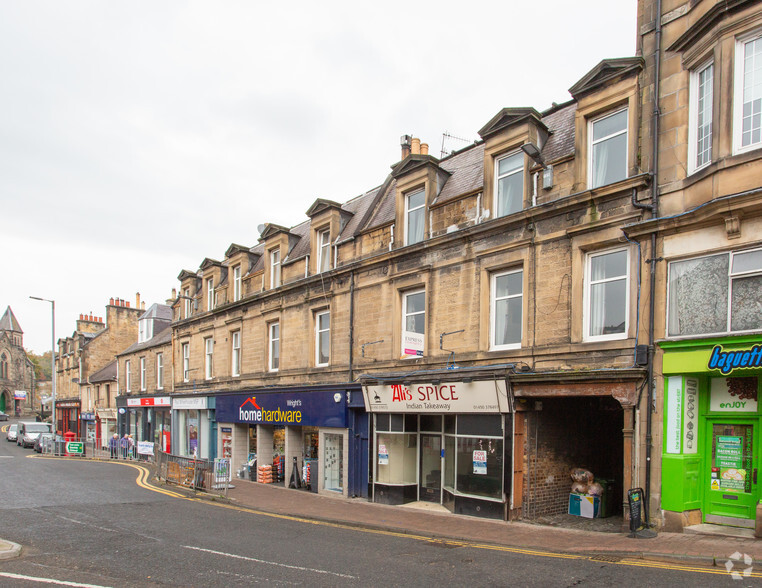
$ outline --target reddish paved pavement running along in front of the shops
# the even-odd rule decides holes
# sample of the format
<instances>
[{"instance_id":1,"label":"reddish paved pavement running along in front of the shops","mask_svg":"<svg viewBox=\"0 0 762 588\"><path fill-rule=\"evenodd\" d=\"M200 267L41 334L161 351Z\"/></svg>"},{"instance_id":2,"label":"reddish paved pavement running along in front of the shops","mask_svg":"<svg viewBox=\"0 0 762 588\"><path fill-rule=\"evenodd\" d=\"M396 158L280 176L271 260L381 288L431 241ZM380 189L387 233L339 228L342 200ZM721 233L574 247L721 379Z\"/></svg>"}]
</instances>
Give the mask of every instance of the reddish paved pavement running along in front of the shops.
<instances>
[{"instance_id":1,"label":"reddish paved pavement running along in front of the shops","mask_svg":"<svg viewBox=\"0 0 762 588\"><path fill-rule=\"evenodd\" d=\"M738 552L762 562L762 540L658 533L653 539L633 539L629 533L600 533L506 522L368 502L366 499L318 495L272 484L236 479L228 499L262 512L290 515L353 527L431 537L488 543L516 549L588 556L629 557L690 561L724 565Z\"/></svg>"}]
</instances>

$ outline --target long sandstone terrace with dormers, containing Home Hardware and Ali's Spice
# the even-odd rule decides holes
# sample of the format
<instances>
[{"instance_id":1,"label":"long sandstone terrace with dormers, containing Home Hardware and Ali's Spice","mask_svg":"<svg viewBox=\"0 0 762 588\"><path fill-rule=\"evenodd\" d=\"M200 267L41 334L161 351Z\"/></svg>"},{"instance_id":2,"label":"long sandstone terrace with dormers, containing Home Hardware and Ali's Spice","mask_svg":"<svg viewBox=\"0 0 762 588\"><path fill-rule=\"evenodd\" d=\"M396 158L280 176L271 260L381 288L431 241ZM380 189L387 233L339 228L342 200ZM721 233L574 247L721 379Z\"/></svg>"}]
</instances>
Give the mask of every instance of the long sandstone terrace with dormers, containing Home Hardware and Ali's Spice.
<instances>
[{"instance_id":1,"label":"long sandstone terrace with dormers, containing Home Hardware and Ali's Spice","mask_svg":"<svg viewBox=\"0 0 762 588\"><path fill-rule=\"evenodd\" d=\"M651 197L643 65L604 60L442 159L403 136L379 186L183 271L175 450L314 454L318 491L495 518L565 512L586 467L621 512L647 375L622 230Z\"/></svg>"}]
</instances>

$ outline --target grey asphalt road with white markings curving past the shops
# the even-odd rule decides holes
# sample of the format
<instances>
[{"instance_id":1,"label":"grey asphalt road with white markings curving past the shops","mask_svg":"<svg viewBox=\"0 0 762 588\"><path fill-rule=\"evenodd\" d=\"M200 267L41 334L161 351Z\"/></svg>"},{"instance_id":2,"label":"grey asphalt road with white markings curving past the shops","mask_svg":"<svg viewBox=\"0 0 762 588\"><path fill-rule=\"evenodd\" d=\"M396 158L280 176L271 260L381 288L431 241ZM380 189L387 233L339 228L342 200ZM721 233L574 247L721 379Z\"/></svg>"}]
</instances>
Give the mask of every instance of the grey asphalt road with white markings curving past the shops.
<instances>
[{"instance_id":1,"label":"grey asphalt road with white markings curving past the shops","mask_svg":"<svg viewBox=\"0 0 762 588\"><path fill-rule=\"evenodd\" d=\"M24 548L0 561L0 586L759 585L299 522L151 490L127 465L33 455L0 433L0 537Z\"/></svg>"}]
</instances>

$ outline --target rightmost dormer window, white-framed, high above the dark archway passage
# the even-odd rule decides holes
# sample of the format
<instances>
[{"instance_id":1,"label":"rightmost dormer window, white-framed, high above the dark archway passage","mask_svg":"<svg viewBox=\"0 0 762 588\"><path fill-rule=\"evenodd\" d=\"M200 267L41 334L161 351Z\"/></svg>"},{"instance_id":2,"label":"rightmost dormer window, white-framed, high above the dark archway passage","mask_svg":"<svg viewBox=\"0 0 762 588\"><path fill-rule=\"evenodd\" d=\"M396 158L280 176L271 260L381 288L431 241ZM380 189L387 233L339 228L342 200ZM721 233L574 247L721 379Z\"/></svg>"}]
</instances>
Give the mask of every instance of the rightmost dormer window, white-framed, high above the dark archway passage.
<instances>
[{"instance_id":1,"label":"rightmost dormer window, white-framed, high above the dark archway passage","mask_svg":"<svg viewBox=\"0 0 762 588\"><path fill-rule=\"evenodd\" d=\"M591 188L627 177L627 109L590 122L589 181Z\"/></svg>"}]
</instances>

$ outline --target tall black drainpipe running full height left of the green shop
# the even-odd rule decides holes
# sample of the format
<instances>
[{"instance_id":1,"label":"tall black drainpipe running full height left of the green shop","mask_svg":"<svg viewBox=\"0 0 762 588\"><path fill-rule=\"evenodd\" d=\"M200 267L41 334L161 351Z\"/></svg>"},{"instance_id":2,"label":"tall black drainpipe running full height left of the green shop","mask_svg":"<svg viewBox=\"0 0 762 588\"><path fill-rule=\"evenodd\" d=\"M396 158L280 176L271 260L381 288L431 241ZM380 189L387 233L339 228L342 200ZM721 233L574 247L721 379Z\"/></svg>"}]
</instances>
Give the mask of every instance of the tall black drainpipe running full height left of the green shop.
<instances>
[{"instance_id":1,"label":"tall black drainpipe running full height left of the green shop","mask_svg":"<svg viewBox=\"0 0 762 588\"><path fill-rule=\"evenodd\" d=\"M654 98L651 115L652 146L652 182L651 182L651 218L659 217L659 94L661 91L661 0L656 0L656 28L654 40ZM645 493L648 512L651 512L651 450L653 445L653 402L654 402L654 319L656 306L656 232L651 233L651 259L649 263L649 312L648 312L648 394L646 402L646 480ZM650 526L650 521L646 521Z\"/></svg>"}]
</instances>

